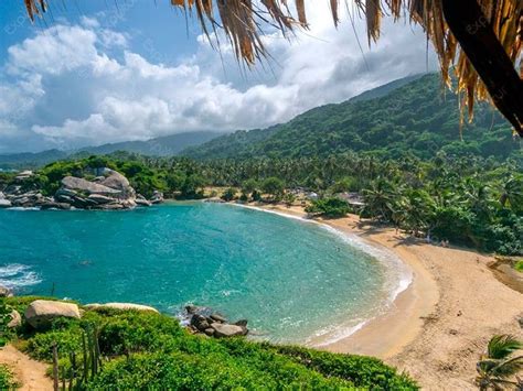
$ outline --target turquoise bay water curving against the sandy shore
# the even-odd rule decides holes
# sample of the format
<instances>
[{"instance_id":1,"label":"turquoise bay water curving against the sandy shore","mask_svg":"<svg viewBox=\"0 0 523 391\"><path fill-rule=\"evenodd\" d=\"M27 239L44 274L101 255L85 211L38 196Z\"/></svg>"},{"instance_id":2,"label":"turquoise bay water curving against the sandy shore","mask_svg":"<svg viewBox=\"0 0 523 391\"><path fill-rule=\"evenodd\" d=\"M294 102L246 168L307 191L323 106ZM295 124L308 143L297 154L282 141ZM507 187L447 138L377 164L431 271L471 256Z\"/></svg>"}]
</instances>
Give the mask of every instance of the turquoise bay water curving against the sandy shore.
<instances>
[{"instance_id":1,"label":"turquoise bay water curving against the sandy shore","mask_svg":"<svg viewBox=\"0 0 523 391\"><path fill-rule=\"evenodd\" d=\"M207 305L273 341L356 326L386 301L385 279L378 260L319 225L231 205L0 210L0 284L173 315Z\"/></svg>"}]
</instances>

